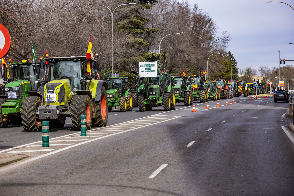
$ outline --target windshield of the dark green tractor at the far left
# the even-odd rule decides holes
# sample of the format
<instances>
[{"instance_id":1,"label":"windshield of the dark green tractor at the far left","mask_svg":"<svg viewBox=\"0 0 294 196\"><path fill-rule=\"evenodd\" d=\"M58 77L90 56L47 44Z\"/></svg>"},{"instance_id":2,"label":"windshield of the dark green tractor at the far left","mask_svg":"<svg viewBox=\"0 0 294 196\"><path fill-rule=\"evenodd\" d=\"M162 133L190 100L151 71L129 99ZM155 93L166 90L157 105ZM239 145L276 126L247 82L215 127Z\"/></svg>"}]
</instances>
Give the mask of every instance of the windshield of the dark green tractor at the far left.
<instances>
[{"instance_id":1,"label":"windshield of the dark green tractor at the far left","mask_svg":"<svg viewBox=\"0 0 294 196\"><path fill-rule=\"evenodd\" d=\"M37 76L34 75L33 66L31 64L20 64L13 68L13 81L28 80L31 82L32 89L37 89L38 86L35 83Z\"/></svg>"}]
</instances>

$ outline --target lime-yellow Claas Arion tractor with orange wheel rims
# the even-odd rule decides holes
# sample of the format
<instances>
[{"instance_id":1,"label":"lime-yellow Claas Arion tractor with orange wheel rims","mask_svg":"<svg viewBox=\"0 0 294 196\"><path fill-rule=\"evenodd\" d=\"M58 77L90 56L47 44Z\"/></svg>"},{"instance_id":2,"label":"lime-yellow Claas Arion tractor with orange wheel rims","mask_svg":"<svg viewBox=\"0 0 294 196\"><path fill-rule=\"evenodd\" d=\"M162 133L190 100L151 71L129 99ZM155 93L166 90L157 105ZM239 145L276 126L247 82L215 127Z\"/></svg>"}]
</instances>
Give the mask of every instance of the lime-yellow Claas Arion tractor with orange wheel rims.
<instances>
[{"instance_id":1,"label":"lime-yellow Claas Arion tractor with orange wheel rims","mask_svg":"<svg viewBox=\"0 0 294 196\"><path fill-rule=\"evenodd\" d=\"M106 126L108 101L105 81L94 80L96 62L86 56L45 58L48 61L49 82L38 92L28 92L21 106L25 131L39 131L41 121L49 120L50 127L63 127L71 118L74 130L81 130L81 115L86 115L86 129ZM90 68L92 67L92 68ZM42 71L42 70L41 70ZM40 83L43 83L41 77Z\"/></svg>"}]
</instances>

